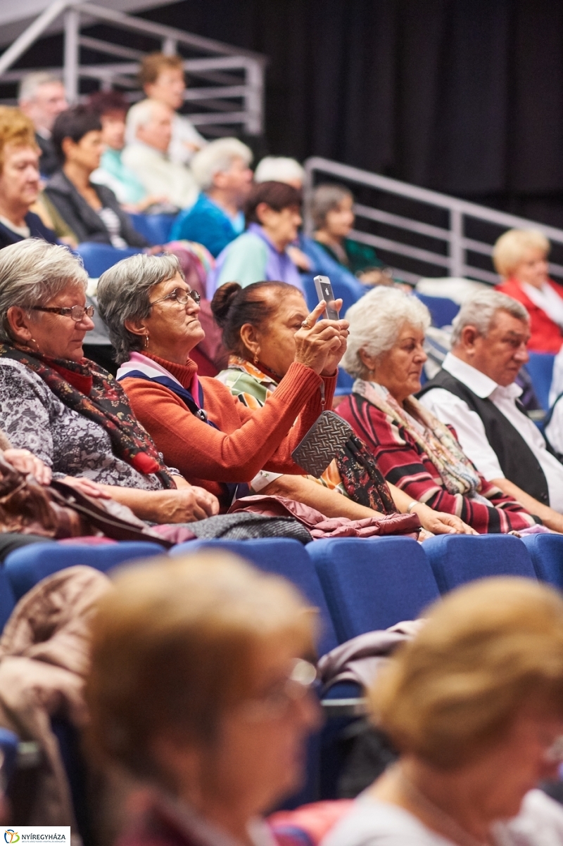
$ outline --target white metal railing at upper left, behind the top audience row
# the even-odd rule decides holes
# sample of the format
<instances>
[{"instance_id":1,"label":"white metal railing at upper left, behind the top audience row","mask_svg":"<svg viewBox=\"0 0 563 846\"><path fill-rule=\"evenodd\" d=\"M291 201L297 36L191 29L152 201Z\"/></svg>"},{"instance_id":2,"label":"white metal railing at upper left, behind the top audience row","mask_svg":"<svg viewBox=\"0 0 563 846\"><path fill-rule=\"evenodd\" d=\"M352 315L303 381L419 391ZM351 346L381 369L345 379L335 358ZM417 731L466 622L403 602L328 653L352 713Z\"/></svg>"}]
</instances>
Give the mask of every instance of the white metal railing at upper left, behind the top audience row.
<instances>
[{"instance_id":1,"label":"white metal railing at upper left, behind the top audience row","mask_svg":"<svg viewBox=\"0 0 563 846\"><path fill-rule=\"evenodd\" d=\"M54 0L0 56L0 84L17 83L29 73L27 69L9 68L60 16L64 27L63 80L69 102L80 99L81 79L97 80L104 90L119 88L130 102L144 96L136 75L146 53L126 43L118 44L82 33L85 27L98 23L151 38L155 41L154 49L167 54L179 52L180 48L199 54L185 58L184 62L185 71L191 80L196 80L196 84L185 91L185 102L195 107L188 113L190 121L205 128L207 135L232 134L235 126L247 135L262 135L265 56L95 3ZM80 63L82 48L98 53L101 61ZM106 57L122 61L103 62ZM60 68L45 70L60 71Z\"/></svg>"}]
</instances>

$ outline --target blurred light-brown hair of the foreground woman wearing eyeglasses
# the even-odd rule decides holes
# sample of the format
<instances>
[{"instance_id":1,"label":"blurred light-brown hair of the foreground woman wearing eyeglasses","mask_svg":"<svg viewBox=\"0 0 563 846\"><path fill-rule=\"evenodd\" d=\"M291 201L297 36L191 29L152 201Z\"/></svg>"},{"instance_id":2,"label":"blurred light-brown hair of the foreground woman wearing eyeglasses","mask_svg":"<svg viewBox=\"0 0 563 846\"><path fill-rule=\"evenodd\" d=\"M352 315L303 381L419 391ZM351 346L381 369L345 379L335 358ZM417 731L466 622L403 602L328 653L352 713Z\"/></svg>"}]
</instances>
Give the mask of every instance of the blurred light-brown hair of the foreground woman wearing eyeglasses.
<instances>
[{"instance_id":1,"label":"blurred light-brown hair of the foreground woman wearing eyeglasses","mask_svg":"<svg viewBox=\"0 0 563 846\"><path fill-rule=\"evenodd\" d=\"M86 701L91 749L158 775L152 739L213 742L225 711L253 694L263 645L312 654L313 619L296 589L228 553L128 567L99 602Z\"/></svg>"}]
</instances>

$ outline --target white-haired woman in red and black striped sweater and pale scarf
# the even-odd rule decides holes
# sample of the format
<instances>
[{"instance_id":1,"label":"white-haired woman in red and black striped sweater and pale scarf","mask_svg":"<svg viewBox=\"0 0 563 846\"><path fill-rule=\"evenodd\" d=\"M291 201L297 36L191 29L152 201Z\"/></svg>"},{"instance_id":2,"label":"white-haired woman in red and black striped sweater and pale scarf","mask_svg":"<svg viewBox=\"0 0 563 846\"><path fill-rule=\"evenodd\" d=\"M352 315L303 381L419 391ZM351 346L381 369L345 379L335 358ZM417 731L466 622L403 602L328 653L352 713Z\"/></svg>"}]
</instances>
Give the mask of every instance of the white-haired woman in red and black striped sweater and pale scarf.
<instances>
[{"instance_id":1,"label":"white-haired woman in red and black striped sweater and pale scarf","mask_svg":"<svg viewBox=\"0 0 563 846\"><path fill-rule=\"evenodd\" d=\"M427 307L395 288L374 288L346 318L342 365L356 382L339 414L367 443L387 481L413 500L456 514L479 534L534 525L520 503L477 473L455 432L413 397L427 359Z\"/></svg>"}]
</instances>

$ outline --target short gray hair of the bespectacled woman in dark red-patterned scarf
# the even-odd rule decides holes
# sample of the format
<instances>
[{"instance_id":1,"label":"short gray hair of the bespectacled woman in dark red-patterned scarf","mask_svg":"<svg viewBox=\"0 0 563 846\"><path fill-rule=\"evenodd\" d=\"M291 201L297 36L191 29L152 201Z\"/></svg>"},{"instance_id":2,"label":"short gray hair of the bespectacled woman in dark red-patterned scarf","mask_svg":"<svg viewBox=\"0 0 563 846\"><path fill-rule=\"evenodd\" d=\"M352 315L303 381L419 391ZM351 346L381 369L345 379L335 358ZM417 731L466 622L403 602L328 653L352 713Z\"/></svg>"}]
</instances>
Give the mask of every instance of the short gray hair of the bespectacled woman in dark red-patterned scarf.
<instances>
[{"instance_id":1,"label":"short gray hair of the bespectacled woman in dark red-patterned scarf","mask_svg":"<svg viewBox=\"0 0 563 846\"><path fill-rule=\"evenodd\" d=\"M28 238L0 250L0 342L11 341L8 309L47 303L68 288L86 290L82 261L62 244ZM40 312L33 311L39 316Z\"/></svg>"}]
</instances>

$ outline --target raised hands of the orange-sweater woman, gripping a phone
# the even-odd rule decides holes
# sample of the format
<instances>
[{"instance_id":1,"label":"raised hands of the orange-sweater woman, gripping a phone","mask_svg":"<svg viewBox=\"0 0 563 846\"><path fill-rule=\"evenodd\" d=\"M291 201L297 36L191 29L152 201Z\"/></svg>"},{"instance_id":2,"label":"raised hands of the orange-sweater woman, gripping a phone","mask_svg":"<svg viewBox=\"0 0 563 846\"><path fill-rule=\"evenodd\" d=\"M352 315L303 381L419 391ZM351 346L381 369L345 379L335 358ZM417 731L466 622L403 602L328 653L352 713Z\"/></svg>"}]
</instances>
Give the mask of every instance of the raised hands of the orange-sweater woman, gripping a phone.
<instances>
[{"instance_id":1,"label":"raised hands of the orange-sweater woman, gripping a phone","mask_svg":"<svg viewBox=\"0 0 563 846\"><path fill-rule=\"evenodd\" d=\"M336 309L342 300L334 301ZM345 354L348 338L348 321L318 320L327 304L320 302L303 321L301 329L295 332L295 361L311 367L322 376L333 376L339 360Z\"/></svg>"}]
</instances>

